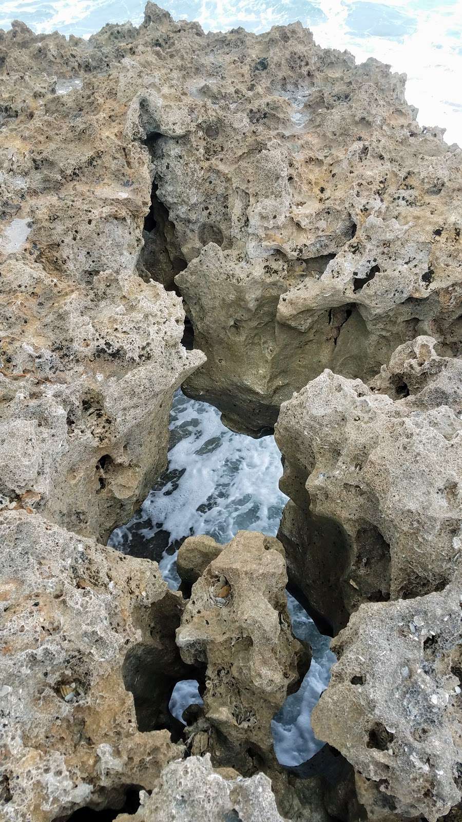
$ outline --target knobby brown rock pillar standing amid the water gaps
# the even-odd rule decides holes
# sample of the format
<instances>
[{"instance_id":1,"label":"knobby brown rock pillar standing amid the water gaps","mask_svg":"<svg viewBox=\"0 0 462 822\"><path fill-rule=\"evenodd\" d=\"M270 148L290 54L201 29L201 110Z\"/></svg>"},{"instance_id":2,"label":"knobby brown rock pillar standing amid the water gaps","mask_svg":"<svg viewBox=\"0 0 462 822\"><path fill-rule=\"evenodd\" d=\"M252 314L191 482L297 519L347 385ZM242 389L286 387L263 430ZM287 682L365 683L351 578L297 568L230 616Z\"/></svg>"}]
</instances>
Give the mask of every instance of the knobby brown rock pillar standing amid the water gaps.
<instances>
[{"instance_id":1,"label":"knobby brown rock pillar standing amid the water gaps","mask_svg":"<svg viewBox=\"0 0 462 822\"><path fill-rule=\"evenodd\" d=\"M307 652L290 630L286 582L280 543L239 531L192 586L177 630L184 662L206 677L192 752L211 750L217 764L243 774L255 771L255 761L275 761L271 719L307 669Z\"/></svg>"}]
</instances>

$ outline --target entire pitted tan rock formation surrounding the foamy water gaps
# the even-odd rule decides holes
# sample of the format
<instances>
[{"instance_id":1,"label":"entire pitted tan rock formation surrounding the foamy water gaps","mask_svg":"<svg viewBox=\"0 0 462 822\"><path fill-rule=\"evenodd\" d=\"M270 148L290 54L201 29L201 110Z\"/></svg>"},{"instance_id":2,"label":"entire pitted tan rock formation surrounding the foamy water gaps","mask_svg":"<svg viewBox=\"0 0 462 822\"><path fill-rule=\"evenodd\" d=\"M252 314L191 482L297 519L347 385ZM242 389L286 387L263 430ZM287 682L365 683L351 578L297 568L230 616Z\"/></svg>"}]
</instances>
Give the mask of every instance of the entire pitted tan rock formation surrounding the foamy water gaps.
<instances>
[{"instance_id":1,"label":"entire pitted tan rock formation surrounding the foamy water gaps","mask_svg":"<svg viewBox=\"0 0 462 822\"><path fill-rule=\"evenodd\" d=\"M143 822L279 820L266 769L297 822L434 822L460 800L460 149L403 75L299 23L206 35L148 3L84 41L16 21L0 78L2 818L143 787ZM280 543L184 543L180 625L155 563L94 540L164 468L185 380L252 434L283 404L289 576L349 621L316 731L357 797L350 766L327 789L275 762L307 666ZM189 750L252 778L164 769L192 672Z\"/></svg>"}]
</instances>

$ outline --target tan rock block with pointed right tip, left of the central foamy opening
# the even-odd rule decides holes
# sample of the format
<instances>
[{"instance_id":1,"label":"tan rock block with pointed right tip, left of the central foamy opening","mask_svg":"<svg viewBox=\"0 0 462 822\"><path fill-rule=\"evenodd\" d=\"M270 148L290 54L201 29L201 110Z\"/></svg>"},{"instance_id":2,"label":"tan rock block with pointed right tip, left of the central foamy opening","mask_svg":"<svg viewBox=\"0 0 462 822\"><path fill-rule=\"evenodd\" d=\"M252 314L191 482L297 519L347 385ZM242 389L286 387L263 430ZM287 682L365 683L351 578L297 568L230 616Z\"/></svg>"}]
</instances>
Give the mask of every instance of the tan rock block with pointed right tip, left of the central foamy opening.
<instances>
[{"instance_id":1,"label":"tan rock block with pointed right tip, left of the central foamy opening","mask_svg":"<svg viewBox=\"0 0 462 822\"><path fill-rule=\"evenodd\" d=\"M87 295L37 264L2 272L3 505L105 538L164 469L173 390L200 362L181 304L113 271Z\"/></svg>"}]
</instances>

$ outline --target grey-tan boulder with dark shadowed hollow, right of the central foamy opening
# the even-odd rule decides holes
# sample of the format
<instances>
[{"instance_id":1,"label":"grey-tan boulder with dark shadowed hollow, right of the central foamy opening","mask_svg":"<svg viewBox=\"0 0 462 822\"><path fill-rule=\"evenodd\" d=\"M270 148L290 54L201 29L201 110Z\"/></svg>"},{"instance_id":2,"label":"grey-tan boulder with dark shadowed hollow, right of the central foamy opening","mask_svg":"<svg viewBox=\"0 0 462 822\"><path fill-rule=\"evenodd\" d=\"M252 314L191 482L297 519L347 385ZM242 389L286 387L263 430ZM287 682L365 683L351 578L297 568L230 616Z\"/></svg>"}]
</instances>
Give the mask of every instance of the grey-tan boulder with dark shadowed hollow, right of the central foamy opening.
<instances>
[{"instance_id":1,"label":"grey-tan boulder with dark shadowed hollow, right of the central foamy opening","mask_svg":"<svg viewBox=\"0 0 462 822\"><path fill-rule=\"evenodd\" d=\"M390 395L380 391L390 391ZM290 574L335 627L441 590L462 545L462 363L418 337L367 387L326 370L282 406Z\"/></svg>"}]
</instances>

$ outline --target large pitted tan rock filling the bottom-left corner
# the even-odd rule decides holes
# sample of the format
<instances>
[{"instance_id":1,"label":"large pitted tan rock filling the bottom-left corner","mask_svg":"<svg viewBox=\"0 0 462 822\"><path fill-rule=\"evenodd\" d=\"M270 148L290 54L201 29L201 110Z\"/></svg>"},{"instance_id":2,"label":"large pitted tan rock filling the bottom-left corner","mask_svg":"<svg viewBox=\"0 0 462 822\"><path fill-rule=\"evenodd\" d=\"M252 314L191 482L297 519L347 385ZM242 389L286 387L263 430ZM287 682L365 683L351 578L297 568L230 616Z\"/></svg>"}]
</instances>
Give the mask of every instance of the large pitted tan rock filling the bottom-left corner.
<instances>
[{"instance_id":1,"label":"large pitted tan rock filling the bottom-left corner","mask_svg":"<svg viewBox=\"0 0 462 822\"><path fill-rule=\"evenodd\" d=\"M155 563L25 511L0 516L0 540L1 818L51 822L81 806L117 807L127 786L152 787L182 753L168 730L138 730L124 687L141 659L151 712L157 705L150 728L166 727L181 596Z\"/></svg>"}]
</instances>

